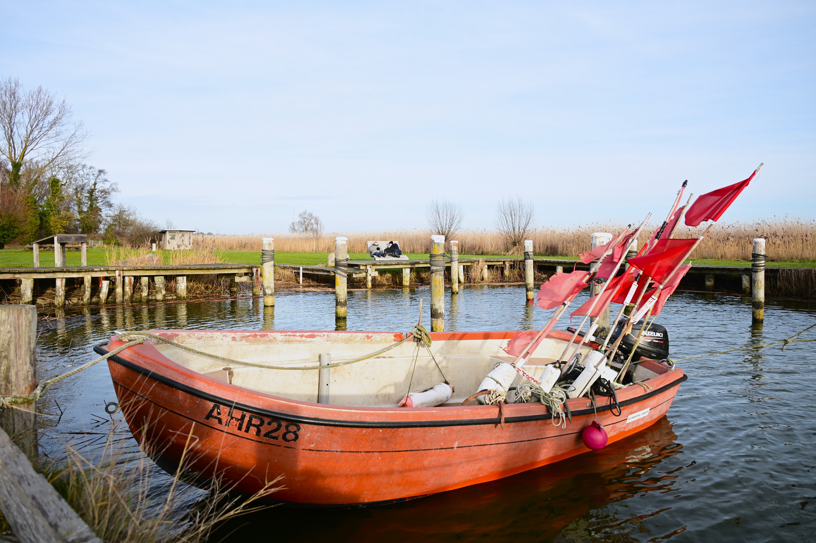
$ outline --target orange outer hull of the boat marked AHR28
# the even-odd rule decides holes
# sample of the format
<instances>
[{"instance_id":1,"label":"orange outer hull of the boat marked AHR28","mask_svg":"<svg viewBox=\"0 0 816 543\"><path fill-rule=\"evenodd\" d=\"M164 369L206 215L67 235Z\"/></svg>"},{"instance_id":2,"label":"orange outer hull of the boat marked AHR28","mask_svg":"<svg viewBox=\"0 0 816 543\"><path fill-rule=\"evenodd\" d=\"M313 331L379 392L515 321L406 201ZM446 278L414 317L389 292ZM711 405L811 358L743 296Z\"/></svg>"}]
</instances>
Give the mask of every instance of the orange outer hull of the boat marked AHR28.
<instances>
[{"instance_id":1,"label":"orange outer hull of the boat marked AHR28","mask_svg":"<svg viewBox=\"0 0 816 543\"><path fill-rule=\"evenodd\" d=\"M114 336L98 350L122 343ZM122 413L163 468L184 456L199 477L246 493L283 475L276 499L335 506L445 492L589 452L581 433L596 418L610 442L643 430L685 380L679 369L645 364L659 376L619 391L620 416L610 398L594 408L574 398L564 429L540 403L503 406L502 425L497 406L344 407L260 394L191 372L147 343L109 358Z\"/></svg>"}]
</instances>

